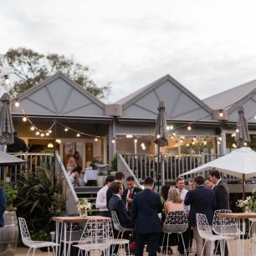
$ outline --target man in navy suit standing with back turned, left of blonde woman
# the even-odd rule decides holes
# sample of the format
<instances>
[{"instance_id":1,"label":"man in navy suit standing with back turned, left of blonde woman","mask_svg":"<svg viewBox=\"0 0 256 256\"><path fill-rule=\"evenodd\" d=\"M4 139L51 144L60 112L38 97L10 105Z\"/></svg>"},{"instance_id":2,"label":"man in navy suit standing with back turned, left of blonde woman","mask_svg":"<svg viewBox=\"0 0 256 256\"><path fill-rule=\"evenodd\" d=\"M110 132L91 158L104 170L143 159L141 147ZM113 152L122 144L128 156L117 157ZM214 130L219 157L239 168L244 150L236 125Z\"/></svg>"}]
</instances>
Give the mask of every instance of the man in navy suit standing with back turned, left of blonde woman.
<instances>
[{"instance_id":1,"label":"man in navy suit standing with back turned, left of blonde woman","mask_svg":"<svg viewBox=\"0 0 256 256\"><path fill-rule=\"evenodd\" d=\"M131 219L135 223L136 256L143 255L145 243L147 243L148 255L156 256L161 234L161 221L158 213L162 212L160 196L153 192L154 180L146 177L145 189L137 193L132 200Z\"/></svg>"}]
</instances>

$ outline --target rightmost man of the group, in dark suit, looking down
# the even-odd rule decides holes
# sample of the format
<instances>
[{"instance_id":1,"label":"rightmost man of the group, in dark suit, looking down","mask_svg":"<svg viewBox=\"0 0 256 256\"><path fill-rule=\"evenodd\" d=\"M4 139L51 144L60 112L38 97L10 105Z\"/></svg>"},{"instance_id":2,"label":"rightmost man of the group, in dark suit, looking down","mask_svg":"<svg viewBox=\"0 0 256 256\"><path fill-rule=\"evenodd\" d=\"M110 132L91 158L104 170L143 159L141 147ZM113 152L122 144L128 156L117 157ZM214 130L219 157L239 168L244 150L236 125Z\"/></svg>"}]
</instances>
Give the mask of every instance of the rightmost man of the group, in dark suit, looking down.
<instances>
[{"instance_id":1,"label":"rightmost man of the group, in dark suit, looking down","mask_svg":"<svg viewBox=\"0 0 256 256\"><path fill-rule=\"evenodd\" d=\"M212 169L210 172L211 182L214 184L213 191L215 193L215 210L229 209L228 187L221 179L220 172L217 169ZM215 242L215 254L220 253L218 242ZM228 256L228 246L225 244L225 256Z\"/></svg>"}]
</instances>

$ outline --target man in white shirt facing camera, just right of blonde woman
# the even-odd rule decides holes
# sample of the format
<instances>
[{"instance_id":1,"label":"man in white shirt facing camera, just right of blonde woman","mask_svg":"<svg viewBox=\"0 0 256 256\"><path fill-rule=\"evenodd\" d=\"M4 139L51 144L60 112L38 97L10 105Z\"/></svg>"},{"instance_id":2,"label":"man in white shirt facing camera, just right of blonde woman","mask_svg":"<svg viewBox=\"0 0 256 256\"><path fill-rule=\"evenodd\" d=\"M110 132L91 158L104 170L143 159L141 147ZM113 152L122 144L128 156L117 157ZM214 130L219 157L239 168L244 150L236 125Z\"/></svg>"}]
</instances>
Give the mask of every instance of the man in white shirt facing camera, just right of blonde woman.
<instances>
[{"instance_id":1,"label":"man in white shirt facing camera, just right of blonde woman","mask_svg":"<svg viewBox=\"0 0 256 256\"><path fill-rule=\"evenodd\" d=\"M185 181L184 181L183 177L177 177L176 187L179 190L182 201L184 203L185 197L187 195L187 189L185 189ZM187 217L188 217L189 211L190 211L190 205L184 204L184 212L187 213ZM187 230L184 233L182 233L186 249L189 248L189 240L190 240L190 233L191 233L190 230L191 230L191 228L188 227ZM182 246L179 246L179 247L180 247L180 248L178 248L179 253L181 255L185 254L184 248Z\"/></svg>"}]
</instances>

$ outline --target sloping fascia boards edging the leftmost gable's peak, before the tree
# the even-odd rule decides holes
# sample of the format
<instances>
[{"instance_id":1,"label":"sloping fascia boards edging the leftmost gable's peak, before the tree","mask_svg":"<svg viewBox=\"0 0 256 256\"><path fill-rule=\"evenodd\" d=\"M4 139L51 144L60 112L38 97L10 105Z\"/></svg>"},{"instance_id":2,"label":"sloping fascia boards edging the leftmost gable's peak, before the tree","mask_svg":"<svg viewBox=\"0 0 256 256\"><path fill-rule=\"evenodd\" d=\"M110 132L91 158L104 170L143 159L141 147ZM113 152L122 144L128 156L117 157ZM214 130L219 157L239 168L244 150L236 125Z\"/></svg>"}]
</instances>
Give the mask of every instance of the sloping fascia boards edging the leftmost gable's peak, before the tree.
<instances>
[{"instance_id":1,"label":"sloping fascia boards edging the leftmost gable's peak, before the tree","mask_svg":"<svg viewBox=\"0 0 256 256\"><path fill-rule=\"evenodd\" d=\"M90 100L95 102L96 105L99 105L100 108L102 108L103 110L105 109L105 104L103 102L101 102L100 100L95 98L95 96L90 94L90 92L85 91L79 84L77 84L73 80L69 79L69 77L67 75L63 74L60 71L58 71L56 74L51 75L49 78L44 79L44 81L40 82L39 84L34 85L33 87L24 91L21 95L18 95L18 100L21 101L21 100L24 100L24 99L28 98L29 95L32 95L33 93L40 90L41 88L43 88L47 84L51 84L52 82L54 82L54 80L59 79L59 78L64 79L65 82L72 85L76 90L79 90L79 92L81 94L83 94L85 97L90 98Z\"/></svg>"}]
</instances>

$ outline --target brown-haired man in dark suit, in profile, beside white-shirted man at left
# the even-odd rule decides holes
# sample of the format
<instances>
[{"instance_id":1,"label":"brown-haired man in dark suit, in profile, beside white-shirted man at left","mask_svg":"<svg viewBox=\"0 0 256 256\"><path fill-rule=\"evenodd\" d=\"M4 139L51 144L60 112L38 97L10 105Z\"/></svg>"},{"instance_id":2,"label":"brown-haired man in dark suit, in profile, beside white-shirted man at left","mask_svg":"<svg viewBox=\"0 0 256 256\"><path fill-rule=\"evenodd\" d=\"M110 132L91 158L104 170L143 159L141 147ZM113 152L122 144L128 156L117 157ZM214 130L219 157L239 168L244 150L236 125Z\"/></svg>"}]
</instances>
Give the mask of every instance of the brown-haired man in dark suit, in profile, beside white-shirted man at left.
<instances>
[{"instance_id":1,"label":"brown-haired man in dark suit, in profile, beside white-shirted man at left","mask_svg":"<svg viewBox=\"0 0 256 256\"><path fill-rule=\"evenodd\" d=\"M122 200L124 192L121 182L113 182L110 186L113 196L110 198L110 211L115 211L120 225L124 228L133 228L131 218L128 216L125 209L125 202Z\"/></svg>"}]
</instances>

